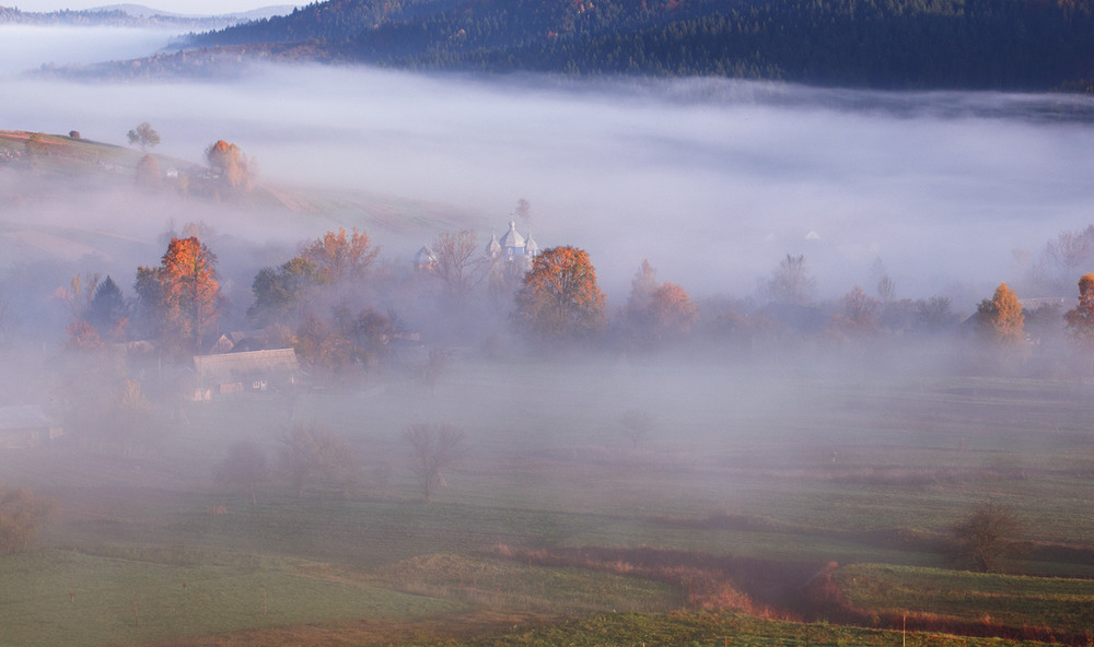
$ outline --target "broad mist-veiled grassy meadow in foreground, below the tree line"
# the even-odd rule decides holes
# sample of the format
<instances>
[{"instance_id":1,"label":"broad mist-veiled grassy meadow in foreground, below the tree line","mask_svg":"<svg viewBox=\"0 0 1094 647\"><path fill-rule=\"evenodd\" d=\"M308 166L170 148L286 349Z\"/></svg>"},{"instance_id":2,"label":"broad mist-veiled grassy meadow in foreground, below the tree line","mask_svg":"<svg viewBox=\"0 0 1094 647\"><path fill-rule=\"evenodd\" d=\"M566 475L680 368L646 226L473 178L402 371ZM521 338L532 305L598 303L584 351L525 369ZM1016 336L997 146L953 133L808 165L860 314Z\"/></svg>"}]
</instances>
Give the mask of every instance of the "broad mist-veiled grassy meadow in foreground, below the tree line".
<instances>
[{"instance_id":1,"label":"broad mist-veiled grassy meadow in foreground, below the tree line","mask_svg":"<svg viewBox=\"0 0 1094 647\"><path fill-rule=\"evenodd\" d=\"M0 452L4 483L60 504L0 560L0 645L1085 644L1094 387L715 360L468 356L434 387L184 403L133 456ZM357 489L213 482L240 439L276 464L296 422L352 442ZM466 434L429 503L419 422ZM985 501L1028 550L948 569Z\"/></svg>"}]
</instances>

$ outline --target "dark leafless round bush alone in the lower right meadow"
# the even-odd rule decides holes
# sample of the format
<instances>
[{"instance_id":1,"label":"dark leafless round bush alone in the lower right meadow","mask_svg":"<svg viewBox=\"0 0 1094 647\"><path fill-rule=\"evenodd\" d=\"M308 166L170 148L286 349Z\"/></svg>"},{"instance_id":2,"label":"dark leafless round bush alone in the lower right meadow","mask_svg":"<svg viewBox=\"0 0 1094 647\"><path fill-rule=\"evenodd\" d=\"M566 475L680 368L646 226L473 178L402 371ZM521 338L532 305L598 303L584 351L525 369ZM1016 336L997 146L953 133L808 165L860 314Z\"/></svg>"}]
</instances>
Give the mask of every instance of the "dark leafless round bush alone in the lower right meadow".
<instances>
[{"instance_id":1,"label":"dark leafless round bush alone in the lower right meadow","mask_svg":"<svg viewBox=\"0 0 1094 647\"><path fill-rule=\"evenodd\" d=\"M952 556L958 564L980 573L996 570L1000 561L1017 554L1015 537L1023 526L1009 507L990 501L978 504L951 528Z\"/></svg>"}]
</instances>

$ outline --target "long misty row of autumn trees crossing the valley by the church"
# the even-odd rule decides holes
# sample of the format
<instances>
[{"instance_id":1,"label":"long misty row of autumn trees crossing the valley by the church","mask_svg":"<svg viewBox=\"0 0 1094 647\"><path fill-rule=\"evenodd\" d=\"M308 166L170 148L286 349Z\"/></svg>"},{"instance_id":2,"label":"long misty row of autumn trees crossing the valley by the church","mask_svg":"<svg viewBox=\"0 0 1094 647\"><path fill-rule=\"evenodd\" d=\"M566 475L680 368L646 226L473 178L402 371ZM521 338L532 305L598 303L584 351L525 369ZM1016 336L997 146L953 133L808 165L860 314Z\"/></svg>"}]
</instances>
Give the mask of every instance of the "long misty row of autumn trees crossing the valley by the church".
<instances>
[{"instance_id":1,"label":"long misty row of autumn trees crossing the valley by the church","mask_svg":"<svg viewBox=\"0 0 1094 647\"><path fill-rule=\"evenodd\" d=\"M131 297L114 278L101 281L95 273L58 289L55 296L72 316L67 346L149 340L181 361L208 352L229 304L217 256L200 234L200 226L187 225L171 237L159 264L138 267ZM236 309L245 317L236 316L234 325L264 330L268 343L294 348L316 375L339 379L382 367L393 340L422 331L442 346L501 333L545 351L583 345L643 353L688 344L755 349L813 339L838 345L963 333L1010 346L1035 338L1045 348L1057 339L1085 344L1094 338L1094 275L1076 271L1094 264L1094 227L1049 242L1026 280L1027 290L1062 298L1075 291L1067 277L1080 275L1073 308L1063 311L1062 301L1024 307L1002 283L965 326L951 297L897 298L884 268L870 290L854 285L837 299L818 301L803 255L781 259L757 297L698 302L685 286L659 281L647 259L626 301L609 311L590 255L571 245L497 258L474 232L449 231L427 251L428 261L414 268L408 261L380 262L368 232L328 231L302 243L284 262L260 269L251 303Z\"/></svg>"}]
</instances>

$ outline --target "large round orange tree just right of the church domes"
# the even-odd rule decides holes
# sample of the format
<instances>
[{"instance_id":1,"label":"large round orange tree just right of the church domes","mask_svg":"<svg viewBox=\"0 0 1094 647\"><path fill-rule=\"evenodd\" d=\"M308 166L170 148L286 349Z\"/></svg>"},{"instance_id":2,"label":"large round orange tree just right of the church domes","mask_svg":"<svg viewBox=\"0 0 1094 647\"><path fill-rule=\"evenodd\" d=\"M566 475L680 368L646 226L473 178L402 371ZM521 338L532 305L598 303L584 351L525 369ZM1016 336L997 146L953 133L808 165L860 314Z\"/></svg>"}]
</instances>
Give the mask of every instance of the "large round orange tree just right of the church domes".
<instances>
[{"instance_id":1,"label":"large round orange tree just right of the church domes","mask_svg":"<svg viewBox=\"0 0 1094 647\"><path fill-rule=\"evenodd\" d=\"M604 293L589 254L552 247L532 261L516 293L516 325L542 341L587 338L605 325Z\"/></svg>"}]
</instances>

